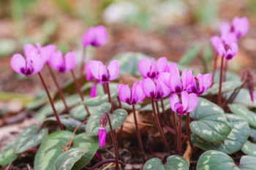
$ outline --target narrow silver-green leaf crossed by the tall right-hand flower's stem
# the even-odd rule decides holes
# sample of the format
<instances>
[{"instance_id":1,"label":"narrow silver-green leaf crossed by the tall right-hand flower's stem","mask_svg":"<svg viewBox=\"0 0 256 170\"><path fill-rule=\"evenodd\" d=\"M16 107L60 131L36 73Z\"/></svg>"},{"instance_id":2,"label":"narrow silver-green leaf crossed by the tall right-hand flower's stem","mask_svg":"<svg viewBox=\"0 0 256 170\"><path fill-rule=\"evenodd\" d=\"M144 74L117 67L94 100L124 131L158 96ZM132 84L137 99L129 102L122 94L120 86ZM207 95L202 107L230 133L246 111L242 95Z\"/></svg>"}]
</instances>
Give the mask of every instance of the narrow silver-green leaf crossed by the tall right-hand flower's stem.
<instances>
[{"instance_id":1,"label":"narrow silver-green leaf crossed by the tall right-hand flower's stem","mask_svg":"<svg viewBox=\"0 0 256 170\"><path fill-rule=\"evenodd\" d=\"M227 93L229 91L235 90L239 86L241 86L242 82L240 80L237 81L228 81L228 82L222 82L222 93ZM219 93L219 83L215 83L211 86L211 88L208 88L208 90L203 93L203 96L206 95L215 95Z\"/></svg>"}]
</instances>

